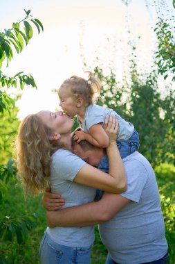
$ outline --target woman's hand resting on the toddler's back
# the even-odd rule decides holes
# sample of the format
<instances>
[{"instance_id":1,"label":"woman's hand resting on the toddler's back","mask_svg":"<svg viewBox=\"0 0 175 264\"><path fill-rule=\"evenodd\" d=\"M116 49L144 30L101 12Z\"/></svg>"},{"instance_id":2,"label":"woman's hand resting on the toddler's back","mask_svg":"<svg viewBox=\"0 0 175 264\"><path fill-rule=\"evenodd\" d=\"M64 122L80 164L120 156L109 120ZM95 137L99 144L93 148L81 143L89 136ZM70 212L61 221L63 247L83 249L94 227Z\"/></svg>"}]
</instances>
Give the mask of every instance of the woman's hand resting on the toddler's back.
<instances>
[{"instance_id":1,"label":"woman's hand resting on the toddler's back","mask_svg":"<svg viewBox=\"0 0 175 264\"><path fill-rule=\"evenodd\" d=\"M117 139L117 132L118 132L118 120L114 115L110 115L109 119L106 116L104 119L103 125L104 131L109 136L110 142L115 141Z\"/></svg>"}]
</instances>

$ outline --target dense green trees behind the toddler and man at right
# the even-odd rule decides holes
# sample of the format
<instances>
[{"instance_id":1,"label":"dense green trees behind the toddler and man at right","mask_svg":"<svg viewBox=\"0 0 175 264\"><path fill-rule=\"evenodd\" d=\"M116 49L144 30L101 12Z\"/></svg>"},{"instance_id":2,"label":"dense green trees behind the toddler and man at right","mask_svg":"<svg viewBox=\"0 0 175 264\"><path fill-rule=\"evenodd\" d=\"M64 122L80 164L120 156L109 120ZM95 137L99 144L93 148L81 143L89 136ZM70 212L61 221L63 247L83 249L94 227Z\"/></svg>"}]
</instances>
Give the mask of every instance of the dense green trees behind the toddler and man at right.
<instances>
[{"instance_id":1,"label":"dense green trees behind the toddler and man at right","mask_svg":"<svg viewBox=\"0 0 175 264\"><path fill-rule=\"evenodd\" d=\"M144 81L131 64L131 84L118 83L111 71L104 76L96 67L94 74L102 81L97 104L113 108L131 122L139 133L140 149L155 167L160 162L174 163L174 102L175 92L169 90L165 97L158 92L157 73L152 71ZM167 147L168 146L168 147Z\"/></svg>"}]
</instances>

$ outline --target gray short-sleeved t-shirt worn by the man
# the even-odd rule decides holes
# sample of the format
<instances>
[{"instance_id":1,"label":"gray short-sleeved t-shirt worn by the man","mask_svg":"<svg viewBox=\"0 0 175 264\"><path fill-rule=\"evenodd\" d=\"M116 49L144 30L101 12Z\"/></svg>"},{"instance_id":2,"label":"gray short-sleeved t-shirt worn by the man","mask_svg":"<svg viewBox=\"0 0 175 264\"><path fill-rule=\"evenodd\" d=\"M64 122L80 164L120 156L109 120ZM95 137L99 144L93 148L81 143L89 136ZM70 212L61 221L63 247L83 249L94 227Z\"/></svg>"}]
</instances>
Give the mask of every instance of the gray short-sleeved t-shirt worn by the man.
<instances>
[{"instance_id":1,"label":"gray short-sleeved t-shirt worn by the man","mask_svg":"<svg viewBox=\"0 0 175 264\"><path fill-rule=\"evenodd\" d=\"M131 202L100 224L100 236L111 258L120 264L155 261L167 252L165 225L154 170L137 151L123 159Z\"/></svg>"}]
</instances>

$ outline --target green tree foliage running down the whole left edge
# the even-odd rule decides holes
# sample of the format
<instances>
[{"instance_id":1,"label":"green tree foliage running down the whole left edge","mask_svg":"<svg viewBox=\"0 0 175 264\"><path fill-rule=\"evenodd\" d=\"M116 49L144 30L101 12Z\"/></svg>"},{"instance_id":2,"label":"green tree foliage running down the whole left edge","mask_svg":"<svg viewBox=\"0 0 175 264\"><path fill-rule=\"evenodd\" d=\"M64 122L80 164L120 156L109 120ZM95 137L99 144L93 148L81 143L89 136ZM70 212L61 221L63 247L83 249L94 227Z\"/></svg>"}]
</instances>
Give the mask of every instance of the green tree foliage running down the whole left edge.
<instances>
[{"instance_id":1,"label":"green tree foliage running down the whole left edge","mask_svg":"<svg viewBox=\"0 0 175 264\"><path fill-rule=\"evenodd\" d=\"M3 63L7 67L13 58L14 52L20 53L33 37L33 26L37 28L38 33L44 30L42 23L39 19L33 19L30 15L30 10L25 10L26 17L20 22L13 23L12 28L0 33L0 69ZM33 26L31 26L33 24ZM4 199L7 201L8 182L17 181L15 165L12 160L7 158L11 155L9 148L9 137L17 131L17 108L15 108L15 99L12 99L8 94L8 88L24 88L24 85L31 85L37 88L33 76L19 72L15 76L6 76L0 70L0 119L1 119L1 137L0 137L0 152L5 151L6 155L0 156L3 165L0 165L0 211L3 206ZM13 121L10 126L10 121ZM9 122L9 123L8 123ZM3 124L3 126L2 126ZM6 151L8 149L8 151ZM7 162L5 164L5 162ZM33 226L30 217L1 215L0 219L0 240L12 241L17 238L17 242L21 244L26 240L28 230ZM11 244L11 243L10 243ZM10 247L8 243L8 249ZM6 263L6 254L0 251L1 263Z\"/></svg>"}]
</instances>

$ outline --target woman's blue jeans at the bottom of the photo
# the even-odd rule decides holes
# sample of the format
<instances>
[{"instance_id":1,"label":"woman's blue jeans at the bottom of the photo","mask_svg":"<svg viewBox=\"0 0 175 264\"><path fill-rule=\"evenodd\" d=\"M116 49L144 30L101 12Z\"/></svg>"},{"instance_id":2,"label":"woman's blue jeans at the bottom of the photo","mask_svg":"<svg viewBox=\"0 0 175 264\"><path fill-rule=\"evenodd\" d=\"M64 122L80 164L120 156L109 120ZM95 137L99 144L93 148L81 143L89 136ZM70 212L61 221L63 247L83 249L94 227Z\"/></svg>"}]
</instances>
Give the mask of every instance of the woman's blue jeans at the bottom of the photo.
<instances>
[{"instance_id":1,"label":"woman's blue jeans at the bottom of the photo","mask_svg":"<svg viewBox=\"0 0 175 264\"><path fill-rule=\"evenodd\" d=\"M42 264L90 264L92 245L66 247L53 241L45 231L39 248Z\"/></svg>"}]
</instances>

